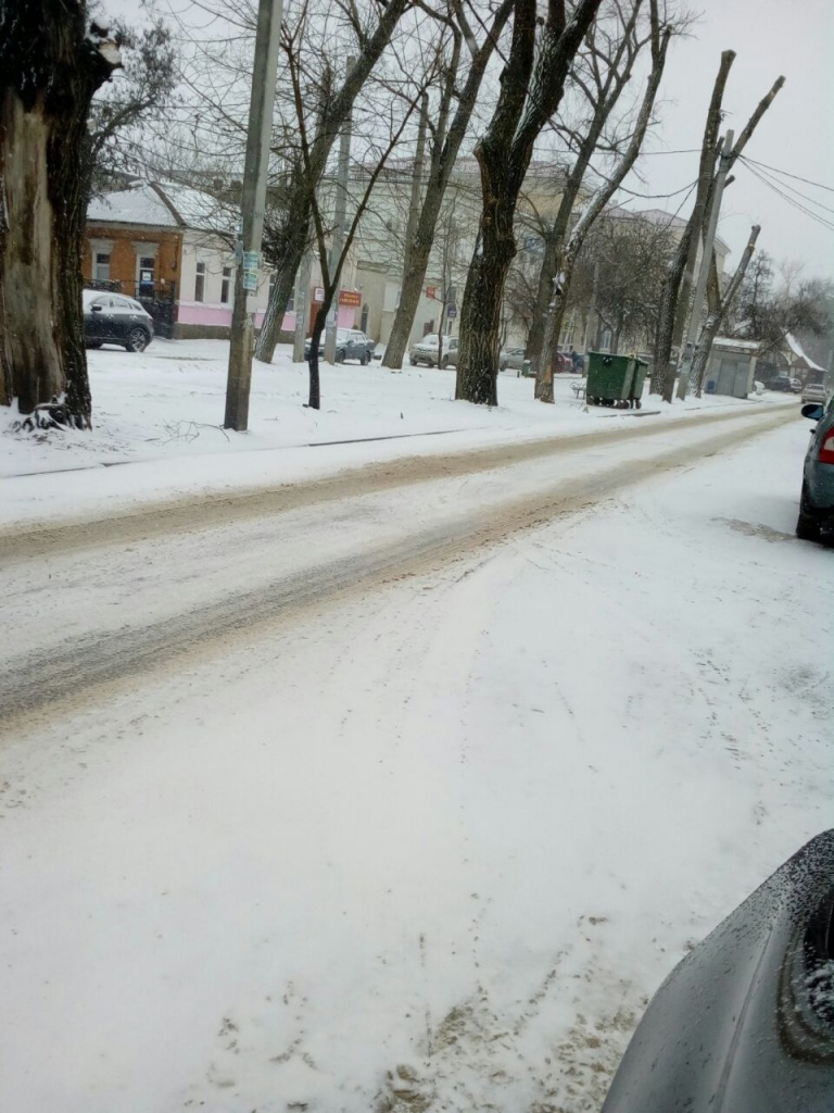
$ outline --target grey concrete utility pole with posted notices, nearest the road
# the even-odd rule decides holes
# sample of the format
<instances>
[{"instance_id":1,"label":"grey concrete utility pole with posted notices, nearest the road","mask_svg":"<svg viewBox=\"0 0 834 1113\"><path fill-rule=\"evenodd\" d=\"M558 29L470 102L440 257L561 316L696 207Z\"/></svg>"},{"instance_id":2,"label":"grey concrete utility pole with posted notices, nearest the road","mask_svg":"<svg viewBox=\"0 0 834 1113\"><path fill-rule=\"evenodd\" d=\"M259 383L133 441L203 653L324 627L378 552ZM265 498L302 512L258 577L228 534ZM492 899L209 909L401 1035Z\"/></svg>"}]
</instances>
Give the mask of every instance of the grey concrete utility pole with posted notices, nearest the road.
<instances>
[{"instance_id":1,"label":"grey concrete utility pole with posted notices, nearest the road","mask_svg":"<svg viewBox=\"0 0 834 1113\"><path fill-rule=\"evenodd\" d=\"M226 384L225 429L246 432L249 423L249 387L252 378L255 309L264 238L269 142L278 73L284 0L259 0L255 37L252 91L246 136L244 189L240 199L240 244L231 315L229 374Z\"/></svg>"}]
</instances>

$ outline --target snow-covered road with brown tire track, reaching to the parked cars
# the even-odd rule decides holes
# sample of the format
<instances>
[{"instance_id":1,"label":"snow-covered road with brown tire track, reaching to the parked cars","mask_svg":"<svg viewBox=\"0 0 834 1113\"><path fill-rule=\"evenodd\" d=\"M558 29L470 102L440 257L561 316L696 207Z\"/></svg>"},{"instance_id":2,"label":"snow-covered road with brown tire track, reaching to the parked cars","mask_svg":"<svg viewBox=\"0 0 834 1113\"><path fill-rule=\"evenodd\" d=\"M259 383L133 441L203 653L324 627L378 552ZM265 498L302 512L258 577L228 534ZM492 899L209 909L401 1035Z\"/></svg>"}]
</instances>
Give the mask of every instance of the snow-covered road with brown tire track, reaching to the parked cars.
<instances>
[{"instance_id":1,"label":"snow-covered road with brown tire track, reaching to the parked cars","mask_svg":"<svg viewBox=\"0 0 834 1113\"><path fill-rule=\"evenodd\" d=\"M6 536L3 1110L598 1109L831 826L785 417Z\"/></svg>"}]
</instances>

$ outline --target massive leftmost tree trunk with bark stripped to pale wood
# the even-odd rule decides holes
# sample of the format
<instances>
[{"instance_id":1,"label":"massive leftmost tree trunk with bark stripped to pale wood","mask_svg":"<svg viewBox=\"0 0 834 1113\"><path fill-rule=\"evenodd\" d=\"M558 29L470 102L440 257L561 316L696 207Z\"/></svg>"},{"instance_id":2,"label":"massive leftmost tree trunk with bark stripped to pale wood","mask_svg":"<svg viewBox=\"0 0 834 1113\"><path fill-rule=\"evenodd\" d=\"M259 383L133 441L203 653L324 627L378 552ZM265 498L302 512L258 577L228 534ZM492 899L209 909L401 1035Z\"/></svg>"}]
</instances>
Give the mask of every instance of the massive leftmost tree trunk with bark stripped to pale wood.
<instances>
[{"instance_id":1,"label":"massive leftmost tree trunk with bark stripped to pale wood","mask_svg":"<svg viewBox=\"0 0 834 1113\"><path fill-rule=\"evenodd\" d=\"M86 0L0 0L0 404L17 400L22 414L43 406L46 423L90 424L87 121L120 66L118 42L90 22Z\"/></svg>"}]
</instances>

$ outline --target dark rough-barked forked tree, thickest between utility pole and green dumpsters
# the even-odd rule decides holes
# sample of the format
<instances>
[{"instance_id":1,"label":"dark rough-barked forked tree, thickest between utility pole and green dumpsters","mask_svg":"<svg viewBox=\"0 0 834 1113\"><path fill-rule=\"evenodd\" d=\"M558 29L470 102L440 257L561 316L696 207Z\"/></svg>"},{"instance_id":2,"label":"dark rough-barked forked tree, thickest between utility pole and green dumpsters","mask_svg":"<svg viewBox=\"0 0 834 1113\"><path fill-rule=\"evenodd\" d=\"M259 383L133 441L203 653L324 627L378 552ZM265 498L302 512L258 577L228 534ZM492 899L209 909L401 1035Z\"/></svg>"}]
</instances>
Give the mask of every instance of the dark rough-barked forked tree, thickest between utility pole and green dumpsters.
<instances>
[{"instance_id":1,"label":"dark rough-barked forked tree, thickest between utility pole and green dumpsters","mask_svg":"<svg viewBox=\"0 0 834 1113\"><path fill-rule=\"evenodd\" d=\"M475 147L483 208L478 243L460 311L460 351L455 395L495 405L500 304L516 253L518 195L542 129L559 107L576 51L602 0L548 0L544 23L536 0L516 0L513 39L500 93L486 134Z\"/></svg>"}]
</instances>

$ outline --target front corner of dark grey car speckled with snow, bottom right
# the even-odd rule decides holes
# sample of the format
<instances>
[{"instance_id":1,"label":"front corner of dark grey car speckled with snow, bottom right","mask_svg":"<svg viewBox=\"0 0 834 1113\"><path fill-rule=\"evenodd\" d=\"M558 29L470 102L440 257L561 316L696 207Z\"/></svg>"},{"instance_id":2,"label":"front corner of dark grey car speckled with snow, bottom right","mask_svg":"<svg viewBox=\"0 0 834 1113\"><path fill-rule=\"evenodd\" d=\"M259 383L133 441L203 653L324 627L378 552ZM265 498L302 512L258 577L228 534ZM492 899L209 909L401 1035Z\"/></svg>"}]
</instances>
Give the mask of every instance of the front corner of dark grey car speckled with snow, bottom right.
<instances>
[{"instance_id":1,"label":"front corner of dark grey car speckled with snow, bottom right","mask_svg":"<svg viewBox=\"0 0 834 1113\"><path fill-rule=\"evenodd\" d=\"M834 830L669 975L603 1113L834 1110Z\"/></svg>"}]
</instances>

